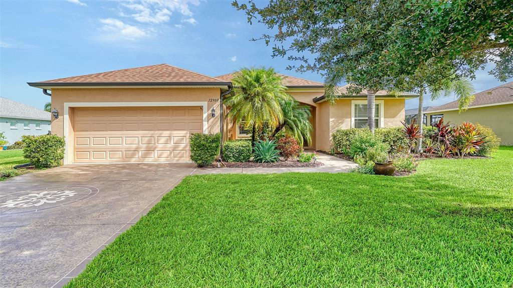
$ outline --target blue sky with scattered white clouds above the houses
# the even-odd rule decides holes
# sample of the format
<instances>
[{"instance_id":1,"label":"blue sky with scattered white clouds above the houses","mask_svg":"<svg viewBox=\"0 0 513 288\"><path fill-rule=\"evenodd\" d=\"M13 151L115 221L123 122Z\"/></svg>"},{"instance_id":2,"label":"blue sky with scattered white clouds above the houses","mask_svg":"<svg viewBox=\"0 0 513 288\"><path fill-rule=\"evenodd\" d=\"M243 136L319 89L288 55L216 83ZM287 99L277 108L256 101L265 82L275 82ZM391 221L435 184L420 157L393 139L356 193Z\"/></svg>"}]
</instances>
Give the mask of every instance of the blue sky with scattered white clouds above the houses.
<instances>
[{"instance_id":1,"label":"blue sky with scattered white clouds above the houses","mask_svg":"<svg viewBox=\"0 0 513 288\"><path fill-rule=\"evenodd\" d=\"M272 66L281 73L323 80L315 73L286 71L291 64L287 59L271 58L271 46L249 40L266 28L250 26L230 3L1 0L0 96L42 108L50 97L29 87L28 81L161 63L210 76ZM477 92L500 85L487 71L478 72L473 81ZM415 108L416 101L408 100L406 108Z\"/></svg>"}]
</instances>

